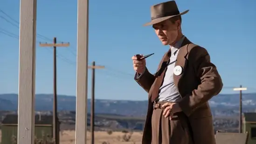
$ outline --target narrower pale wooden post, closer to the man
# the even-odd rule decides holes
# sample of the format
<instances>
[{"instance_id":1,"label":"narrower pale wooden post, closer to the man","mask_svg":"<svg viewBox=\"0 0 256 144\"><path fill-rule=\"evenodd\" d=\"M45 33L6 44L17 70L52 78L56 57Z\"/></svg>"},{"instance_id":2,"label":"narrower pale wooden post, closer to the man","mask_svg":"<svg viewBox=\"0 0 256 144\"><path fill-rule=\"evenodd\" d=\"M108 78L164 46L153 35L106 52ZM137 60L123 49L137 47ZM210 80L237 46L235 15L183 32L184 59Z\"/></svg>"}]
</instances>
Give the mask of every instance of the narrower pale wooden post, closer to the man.
<instances>
[{"instance_id":1,"label":"narrower pale wooden post, closer to the man","mask_svg":"<svg viewBox=\"0 0 256 144\"><path fill-rule=\"evenodd\" d=\"M77 0L76 144L86 144L89 0Z\"/></svg>"}]
</instances>

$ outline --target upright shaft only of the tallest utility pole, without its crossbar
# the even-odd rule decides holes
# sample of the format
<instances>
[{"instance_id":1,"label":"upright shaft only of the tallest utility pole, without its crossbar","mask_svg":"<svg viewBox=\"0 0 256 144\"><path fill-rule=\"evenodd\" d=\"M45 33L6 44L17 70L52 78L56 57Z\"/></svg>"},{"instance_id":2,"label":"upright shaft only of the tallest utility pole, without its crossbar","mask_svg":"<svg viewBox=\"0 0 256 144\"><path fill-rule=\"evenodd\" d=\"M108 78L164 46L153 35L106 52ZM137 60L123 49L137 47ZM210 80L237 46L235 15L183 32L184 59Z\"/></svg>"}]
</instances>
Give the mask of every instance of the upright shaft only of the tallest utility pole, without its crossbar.
<instances>
[{"instance_id":1,"label":"upright shaft only of the tallest utility pole, without its crossbar","mask_svg":"<svg viewBox=\"0 0 256 144\"><path fill-rule=\"evenodd\" d=\"M56 44L56 37L53 39ZM53 138L57 144L57 71L56 71L56 46L53 47Z\"/></svg>"}]
</instances>

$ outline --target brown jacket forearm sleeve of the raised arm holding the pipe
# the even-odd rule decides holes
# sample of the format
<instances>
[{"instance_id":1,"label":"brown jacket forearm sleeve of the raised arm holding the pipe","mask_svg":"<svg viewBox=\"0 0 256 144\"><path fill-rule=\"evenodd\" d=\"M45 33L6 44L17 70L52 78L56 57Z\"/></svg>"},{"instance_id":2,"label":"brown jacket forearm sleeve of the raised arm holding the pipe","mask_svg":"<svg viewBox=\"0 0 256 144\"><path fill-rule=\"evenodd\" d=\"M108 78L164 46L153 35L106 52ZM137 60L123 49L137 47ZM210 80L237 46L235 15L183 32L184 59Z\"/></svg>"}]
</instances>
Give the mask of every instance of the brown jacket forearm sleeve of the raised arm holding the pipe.
<instances>
[{"instance_id":1,"label":"brown jacket forearm sleeve of the raised arm holding the pipe","mask_svg":"<svg viewBox=\"0 0 256 144\"><path fill-rule=\"evenodd\" d=\"M155 76L152 75L146 68L142 75L138 76L136 73L134 79L148 93L153 82L155 81Z\"/></svg>"}]
</instances>

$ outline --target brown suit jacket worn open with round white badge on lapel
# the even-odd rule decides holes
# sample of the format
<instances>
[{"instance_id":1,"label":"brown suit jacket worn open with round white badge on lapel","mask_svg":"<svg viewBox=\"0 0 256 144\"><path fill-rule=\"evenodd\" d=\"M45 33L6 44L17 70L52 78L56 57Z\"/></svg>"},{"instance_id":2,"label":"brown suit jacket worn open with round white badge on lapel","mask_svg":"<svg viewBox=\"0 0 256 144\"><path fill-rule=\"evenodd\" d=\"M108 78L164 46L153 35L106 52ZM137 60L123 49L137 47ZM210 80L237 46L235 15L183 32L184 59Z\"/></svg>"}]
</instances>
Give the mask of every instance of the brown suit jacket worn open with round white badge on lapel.
<instances>
[{"instance_id":1,"label":"brown suit jacket worn open with round white badge on lapel","mask_svg":"<svg viewBox=\"0 0 256 144\"><path fill-rule=\"evenodd\" d=\"M167 62L168 59L166 53L159 68L162 62ZM173 79L182 97L179 105L189 119L194 144L215 144L213 120L208 100L220 93L223 86L221 76L215 65L210 62L207 50L194 45L187 38L184 39L177 55L175 66L177 65L183 68L183 73L173 75ZM155 77L146 69L145 73L135 80L149 94L142 144L151 144L153 111L151 97L158 95L163 76Z\"/></svg>"}]
</instances>

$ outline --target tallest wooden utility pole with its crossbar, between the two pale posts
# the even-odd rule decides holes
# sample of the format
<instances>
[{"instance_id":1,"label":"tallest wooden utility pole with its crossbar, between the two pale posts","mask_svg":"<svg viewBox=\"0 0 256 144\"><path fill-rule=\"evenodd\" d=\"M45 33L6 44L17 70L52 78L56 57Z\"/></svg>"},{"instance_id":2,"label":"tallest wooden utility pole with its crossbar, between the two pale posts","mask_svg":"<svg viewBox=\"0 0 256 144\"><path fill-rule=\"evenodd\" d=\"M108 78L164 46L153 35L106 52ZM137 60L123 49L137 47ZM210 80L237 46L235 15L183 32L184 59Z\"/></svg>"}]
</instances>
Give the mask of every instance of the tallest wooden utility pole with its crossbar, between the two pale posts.
<instances>
[{"instance_id":1,"label":"tallest wooden utility pole with its crossbar, between the two pale posts","mask_svg":"<svg viewBox=\"0 0 256 144\"><path fill-rule=\"evenodd\" d=\"M41 43L40 47L53 47L53 139L55 144L59 144L59 128L57 114L57 70L56 70L56 47L69 47L69 43L56 43L56 37L53 43Z\"/></svg>"}]
</instances>

